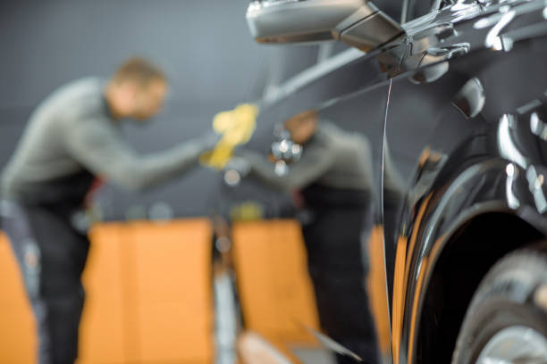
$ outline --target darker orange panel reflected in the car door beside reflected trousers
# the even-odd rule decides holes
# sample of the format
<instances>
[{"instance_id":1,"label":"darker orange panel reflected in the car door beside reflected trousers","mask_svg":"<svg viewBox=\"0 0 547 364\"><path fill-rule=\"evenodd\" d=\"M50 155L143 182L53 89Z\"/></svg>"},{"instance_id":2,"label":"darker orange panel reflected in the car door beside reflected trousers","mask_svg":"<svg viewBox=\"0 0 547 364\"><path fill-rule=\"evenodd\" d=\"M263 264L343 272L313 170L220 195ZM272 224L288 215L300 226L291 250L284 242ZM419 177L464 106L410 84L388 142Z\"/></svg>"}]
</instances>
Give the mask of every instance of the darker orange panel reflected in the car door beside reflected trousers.
<instances>
[{"instance_id":1,"label":"darker orange panel reflected in the car door beside reflected trousers","mask_svg":"<svg viewBox=\"0 0 547 364\"><path fill-rule=\"evenodd\" d=\"M315 343L301 327L319 324L299 224L243 222L234 225L232 236L246 328L273 343Z\"/></svg>"}]
</instances>

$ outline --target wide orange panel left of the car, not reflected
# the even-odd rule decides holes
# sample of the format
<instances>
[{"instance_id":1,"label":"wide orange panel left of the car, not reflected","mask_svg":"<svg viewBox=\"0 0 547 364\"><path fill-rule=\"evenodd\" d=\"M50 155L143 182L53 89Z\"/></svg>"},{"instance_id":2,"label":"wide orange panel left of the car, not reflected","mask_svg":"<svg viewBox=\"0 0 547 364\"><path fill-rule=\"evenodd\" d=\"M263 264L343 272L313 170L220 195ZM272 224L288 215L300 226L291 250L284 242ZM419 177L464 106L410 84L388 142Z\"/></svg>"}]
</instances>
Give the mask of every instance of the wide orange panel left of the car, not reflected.
<instances>
[{"instance_id":1,"label":"wide orange panel left of the car, not reflected","mask_svg":"<svg viewBox=\"0 0 547 364\"><path fill-rule=\"evenodd\" d=\"M213 358L211 227L206 219L134 223L141 362Z\"/></svg>"}]
</instances>

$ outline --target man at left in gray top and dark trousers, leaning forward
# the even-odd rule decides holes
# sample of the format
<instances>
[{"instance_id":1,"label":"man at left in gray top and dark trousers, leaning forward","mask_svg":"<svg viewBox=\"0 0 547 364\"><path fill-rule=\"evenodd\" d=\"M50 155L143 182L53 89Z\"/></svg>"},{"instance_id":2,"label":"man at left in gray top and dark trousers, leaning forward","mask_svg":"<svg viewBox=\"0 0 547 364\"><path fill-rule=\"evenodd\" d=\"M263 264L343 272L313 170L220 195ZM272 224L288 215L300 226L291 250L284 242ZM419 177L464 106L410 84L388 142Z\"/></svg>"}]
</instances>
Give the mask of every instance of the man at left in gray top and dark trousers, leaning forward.
<instances>
[{"instance_id":1,"label":"man at left in gray top and dark trousers, leaning forward","mask_svg":"<svg viewBox=\"0 0 547 364\"><path fill-rule=\"evenodd\" d=\"M162 70L125 62L111 79L79 79L32 113L2 175L2 227L21 267L38 323L38 362L72 363L84 302L80 276L88 237L72 223L94 180L130 190L180 176L213 147L213 132L162 153L139 155L119 136L121 120L147 120L167 92Z\"/></svg>"}]
</instances>

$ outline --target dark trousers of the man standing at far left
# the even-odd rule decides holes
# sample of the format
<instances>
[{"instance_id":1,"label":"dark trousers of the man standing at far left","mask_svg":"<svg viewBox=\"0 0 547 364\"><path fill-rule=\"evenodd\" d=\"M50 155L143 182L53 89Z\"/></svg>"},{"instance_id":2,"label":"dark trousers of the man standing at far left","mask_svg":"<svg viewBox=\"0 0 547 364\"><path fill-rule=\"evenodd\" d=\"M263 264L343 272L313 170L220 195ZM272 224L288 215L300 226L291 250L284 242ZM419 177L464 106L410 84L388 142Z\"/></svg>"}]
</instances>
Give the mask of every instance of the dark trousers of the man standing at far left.
<instances>
[{"instance_id":1,"label":"dark trousers of the man standing at far left","mask_svg":"<svg viewBox=\"0 0 547 364\"><path fill-rule=\"evenodd\" d=\"M80 277L89 242L70 216L51 206L3 203L2 227L10 239L38 324L38 362L73 363L84 290Z\"/></svg>"}]
</instances>

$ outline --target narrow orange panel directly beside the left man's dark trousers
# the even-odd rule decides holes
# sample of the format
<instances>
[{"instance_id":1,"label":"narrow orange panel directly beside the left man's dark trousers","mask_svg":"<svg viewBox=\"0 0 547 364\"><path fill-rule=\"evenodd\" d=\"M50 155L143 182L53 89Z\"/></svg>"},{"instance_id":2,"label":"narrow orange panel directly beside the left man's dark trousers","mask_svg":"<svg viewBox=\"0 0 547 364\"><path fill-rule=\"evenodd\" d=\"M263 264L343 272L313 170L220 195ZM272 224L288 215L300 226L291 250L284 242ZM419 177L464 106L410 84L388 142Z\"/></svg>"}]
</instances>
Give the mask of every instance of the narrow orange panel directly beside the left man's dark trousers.
<instances>
[{"instance_id":1,"label":"narrow orange panel directly beside the left man's dark trousers","mask_svg":"<svg viewBox=\"0 0 547 364\"><path fill-rule=\"evenodd\" d=\"M122 224L94 227L84 272L86 303L80 325L80 364L127 362L130 317L126 252L121 252ZM125 264L124 264L125 263ZM123 274L126 276L123 277Z\"/></svg>"}]
</instances>

